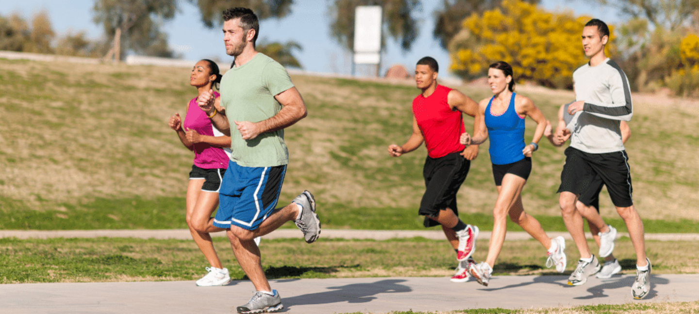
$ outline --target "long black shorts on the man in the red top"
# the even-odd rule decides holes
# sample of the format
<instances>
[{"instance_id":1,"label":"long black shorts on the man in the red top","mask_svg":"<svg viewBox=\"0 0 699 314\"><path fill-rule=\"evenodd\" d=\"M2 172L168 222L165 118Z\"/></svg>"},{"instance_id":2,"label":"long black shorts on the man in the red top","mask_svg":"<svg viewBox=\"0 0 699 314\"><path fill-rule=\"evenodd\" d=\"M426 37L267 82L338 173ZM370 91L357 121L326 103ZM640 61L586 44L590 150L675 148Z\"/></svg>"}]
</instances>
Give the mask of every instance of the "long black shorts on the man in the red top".
<instances>
[{"instance_id":1,"label":"long black shorts on the man in the red top","mask_svg":"<svg viewBox=\"0 0 699 314\"><path fill-rule=\"evenodd\" d=\"M426 190L422 196L418 213L436 217L440 210L449 208L454 211L456 216L459 216L459 209L456 208L456 193L459 192L461 184L466 180L470 165L470 160L463 158L461 151L440 158L428 156L422 171ZM425 217L424 225L432 227L439 225L439 223Z\"/></svg>"}]
</instances>

